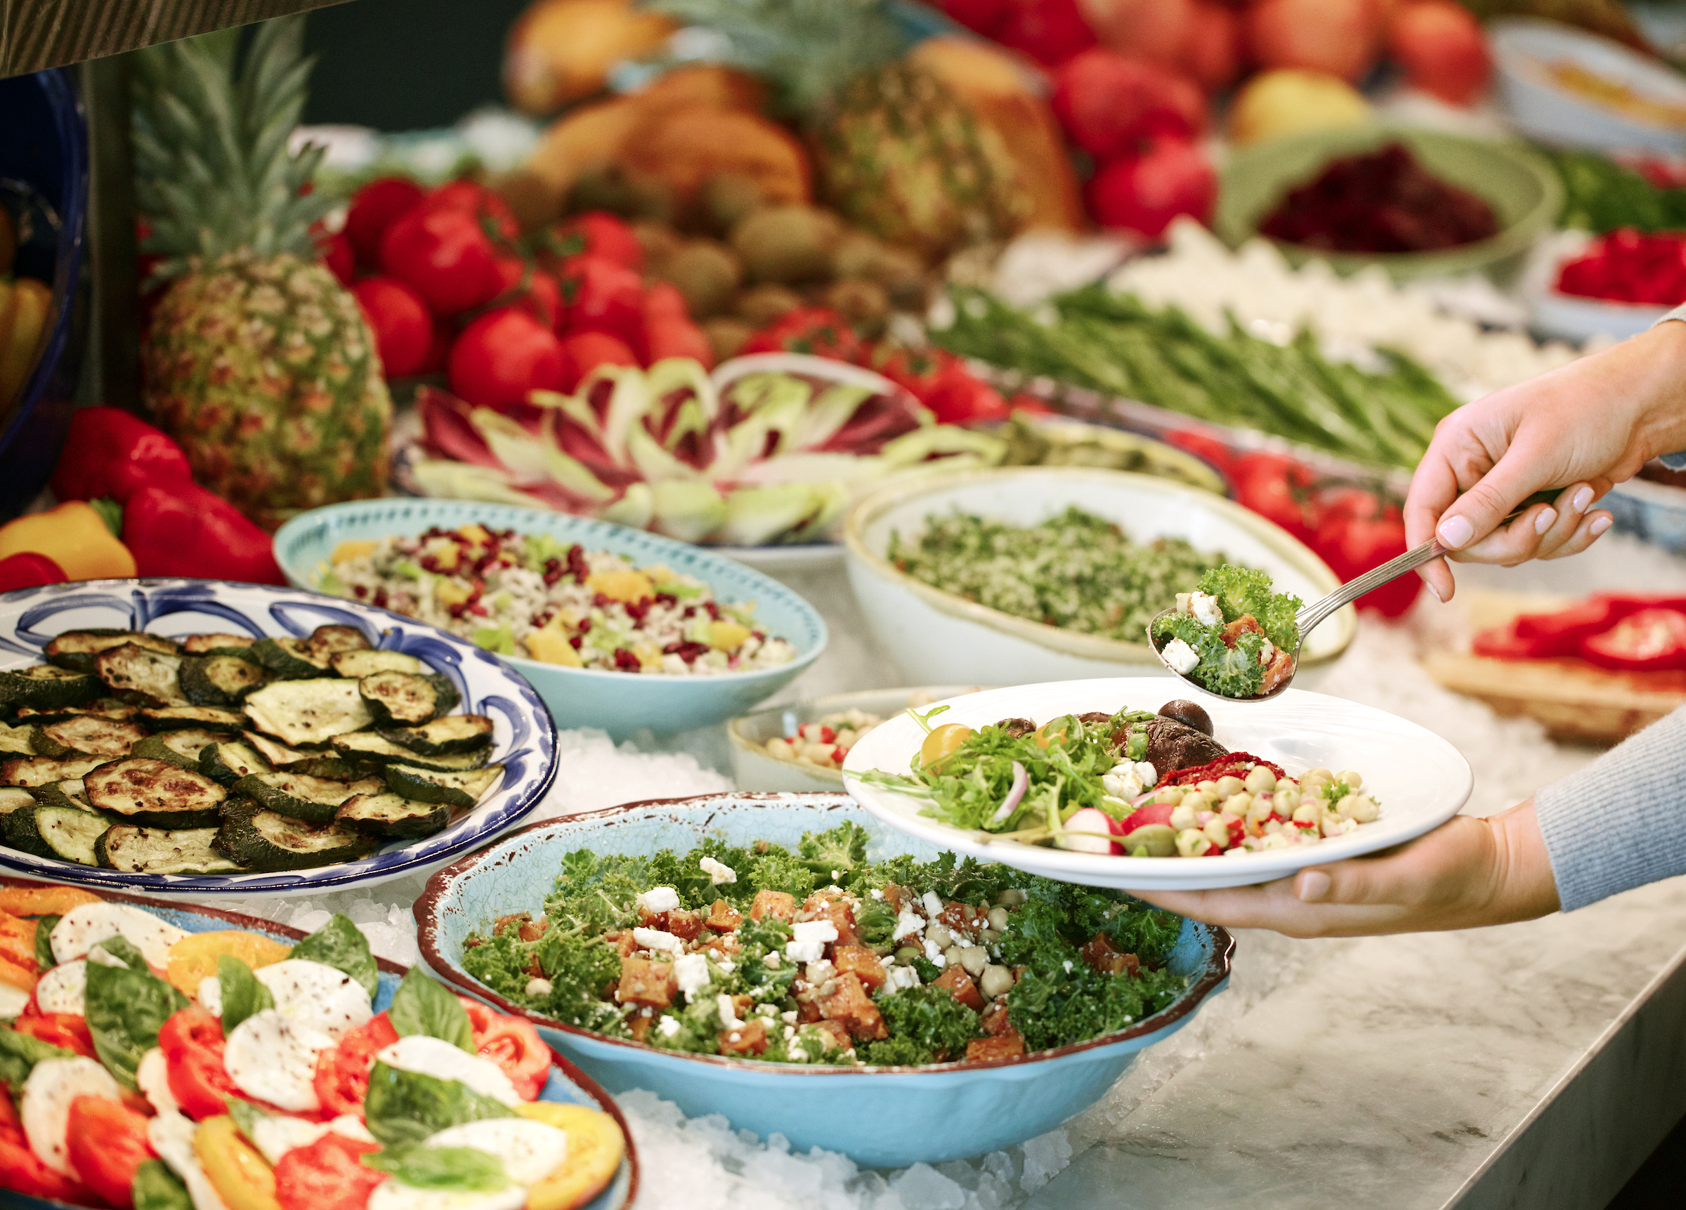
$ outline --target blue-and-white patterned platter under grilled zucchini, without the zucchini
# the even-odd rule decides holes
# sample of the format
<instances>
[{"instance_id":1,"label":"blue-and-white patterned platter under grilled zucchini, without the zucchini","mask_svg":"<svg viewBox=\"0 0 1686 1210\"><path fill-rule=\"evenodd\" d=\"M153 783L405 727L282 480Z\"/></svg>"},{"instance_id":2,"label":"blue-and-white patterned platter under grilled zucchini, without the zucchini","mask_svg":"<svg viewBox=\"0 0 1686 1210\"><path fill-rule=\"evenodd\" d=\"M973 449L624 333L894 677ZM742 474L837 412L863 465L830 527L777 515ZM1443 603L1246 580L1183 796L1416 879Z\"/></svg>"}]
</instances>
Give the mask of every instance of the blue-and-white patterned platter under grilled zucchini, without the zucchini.
<instances>
[{"instance_id":1,"label":"blue-and-white patterned platter under grilled zucchini, without the zucchini","mask_svg":"<svg viewBox=\"0 0 1686 1210\"><path fill-rule=\"evenodd\" d=\"M393 841L359 861L315 870L132 875L0 848L0 873L162 895L317 895L433 870L521 822L545 797L556 775L556 728L533 688L474 644L373 605L221 580L83 580L19 588L0 593L0 667L40 664L40 649L72 629L307 635L319 625L354 625L376 647L415 656L457 686L462 713L492 720L492 763L504 767L504 777L479 806L425 839Z\"/></svg>"}]
</instances>

